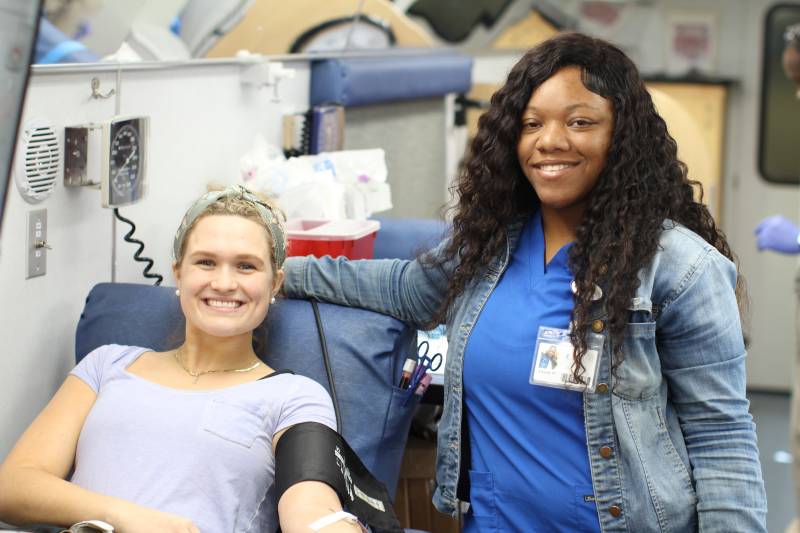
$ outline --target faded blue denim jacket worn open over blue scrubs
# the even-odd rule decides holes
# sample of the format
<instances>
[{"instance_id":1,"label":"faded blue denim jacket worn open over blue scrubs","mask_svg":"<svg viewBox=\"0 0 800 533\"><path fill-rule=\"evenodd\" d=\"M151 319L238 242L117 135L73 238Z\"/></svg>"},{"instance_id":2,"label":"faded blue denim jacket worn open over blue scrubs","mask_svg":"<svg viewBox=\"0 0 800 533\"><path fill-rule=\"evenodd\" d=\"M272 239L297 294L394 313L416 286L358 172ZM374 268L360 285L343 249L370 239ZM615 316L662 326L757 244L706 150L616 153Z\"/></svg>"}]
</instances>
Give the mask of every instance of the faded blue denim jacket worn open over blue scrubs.
<instances>
[{"instance_id":1,"label":"faded blue denim jacket worn open over blue scrubs","mask_svg":"<svg viewBox=\"0 0 800 533\"><path fill-rule=\"evenodd\" d=\"M467 339L508 265L505 253L457 298L447 324L444 411L436 507L455 515L466 485L463 361ZM444 246L444 243L440 246ZM387 313L422 325L453 265L418 261L290 258L286 293ZM606 339L598 386L584 393L592 484L604 533L766 532L766 495L755 425L745 398L745 349L736 268L701 237L665 222L658 251L639 272L623 360L612 373ZM592 329L605 331L600 299Z\"/></svg>"}]
</instances>

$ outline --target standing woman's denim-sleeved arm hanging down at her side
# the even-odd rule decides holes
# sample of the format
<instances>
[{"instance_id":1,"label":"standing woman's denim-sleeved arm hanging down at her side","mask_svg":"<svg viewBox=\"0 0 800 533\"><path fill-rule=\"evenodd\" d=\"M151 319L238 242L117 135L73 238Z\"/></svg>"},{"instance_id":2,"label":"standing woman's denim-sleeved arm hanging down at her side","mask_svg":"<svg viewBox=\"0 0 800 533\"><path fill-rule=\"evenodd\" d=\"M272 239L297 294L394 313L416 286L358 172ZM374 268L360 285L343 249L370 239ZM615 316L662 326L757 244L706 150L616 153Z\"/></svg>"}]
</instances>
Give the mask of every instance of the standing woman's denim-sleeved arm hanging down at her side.
<instances>
[{"instance_id":1,"label":"standing woman's denim-sleeved arm hanging down at her side","mask_svg":"<svg viewBox=\"0 0 800 533\"><path fill-rule=\"evenodd\" d=\"M657 341L692 466L700 531L766 532L736 268L716 250L691 268L664 303Z\"/></svg>"}]
</instances>

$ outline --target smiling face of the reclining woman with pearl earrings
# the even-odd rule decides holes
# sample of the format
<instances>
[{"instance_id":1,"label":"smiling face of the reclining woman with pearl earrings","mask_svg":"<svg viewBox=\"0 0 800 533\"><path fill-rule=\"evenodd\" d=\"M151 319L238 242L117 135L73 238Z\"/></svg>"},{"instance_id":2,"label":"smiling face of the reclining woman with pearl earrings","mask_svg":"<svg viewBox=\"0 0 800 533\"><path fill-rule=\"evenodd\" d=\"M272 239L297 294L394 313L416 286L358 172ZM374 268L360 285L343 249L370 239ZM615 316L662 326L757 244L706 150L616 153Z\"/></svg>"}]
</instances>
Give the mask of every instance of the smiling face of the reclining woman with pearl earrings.
<instances>
[{"instance_id":1,"label":"smiling face of the reclining woman with pearl earrings","mask_svg":"<svg viewBox=\"0 0 800 533\"><path fill-rule=\"evenodd\" d=\"M283 270L272 270L267 230L235 215L199 219L173 268L187 332L216 337L251 334L283 282Z\"/></svg>"}]
</instances>

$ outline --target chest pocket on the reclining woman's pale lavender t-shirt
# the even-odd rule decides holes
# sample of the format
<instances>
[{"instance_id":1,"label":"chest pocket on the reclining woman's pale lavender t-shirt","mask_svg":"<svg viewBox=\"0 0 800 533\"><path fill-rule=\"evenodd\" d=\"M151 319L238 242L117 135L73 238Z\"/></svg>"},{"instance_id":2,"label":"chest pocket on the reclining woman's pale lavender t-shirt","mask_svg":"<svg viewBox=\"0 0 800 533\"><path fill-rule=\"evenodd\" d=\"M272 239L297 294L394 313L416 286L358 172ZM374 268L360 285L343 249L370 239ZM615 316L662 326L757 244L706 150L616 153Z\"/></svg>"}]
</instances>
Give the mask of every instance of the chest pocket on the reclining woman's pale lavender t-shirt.
<instances>
[{"instance_id":1,"label":"chest pocket on the reclining woman's pale lavender t-shirt","mask_svg":"<svg viewBox=\"0 0 800 533\"><path fill-rule=\"evenodd\" d=\"M206 433L250 448L262 434L263 423L263 413L251 406L213 399L206 405L201 427Z\"/></svg>"}]
</instances>

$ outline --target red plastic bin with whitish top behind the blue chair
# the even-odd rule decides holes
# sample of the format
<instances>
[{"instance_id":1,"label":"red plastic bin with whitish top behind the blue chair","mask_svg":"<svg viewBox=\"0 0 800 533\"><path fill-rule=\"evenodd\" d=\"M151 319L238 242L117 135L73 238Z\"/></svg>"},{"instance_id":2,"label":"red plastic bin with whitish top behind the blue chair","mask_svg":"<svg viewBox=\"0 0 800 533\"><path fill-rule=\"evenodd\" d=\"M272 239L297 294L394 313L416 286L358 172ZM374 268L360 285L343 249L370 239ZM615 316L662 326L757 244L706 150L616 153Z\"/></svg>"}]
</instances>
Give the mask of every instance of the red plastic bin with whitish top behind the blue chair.
<instances>
[{"instance_id":1,"label":"red plastic bin with whitish top behind the blue chair","mask_svg":"<svg viewBox=\"0 0 800 533\"><path fill-rule=\"evenodd\" d=\"M287 255L372 259L377 220L291 220L286 223Z\"/></svg>"}]
</instances>

